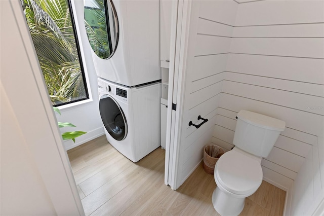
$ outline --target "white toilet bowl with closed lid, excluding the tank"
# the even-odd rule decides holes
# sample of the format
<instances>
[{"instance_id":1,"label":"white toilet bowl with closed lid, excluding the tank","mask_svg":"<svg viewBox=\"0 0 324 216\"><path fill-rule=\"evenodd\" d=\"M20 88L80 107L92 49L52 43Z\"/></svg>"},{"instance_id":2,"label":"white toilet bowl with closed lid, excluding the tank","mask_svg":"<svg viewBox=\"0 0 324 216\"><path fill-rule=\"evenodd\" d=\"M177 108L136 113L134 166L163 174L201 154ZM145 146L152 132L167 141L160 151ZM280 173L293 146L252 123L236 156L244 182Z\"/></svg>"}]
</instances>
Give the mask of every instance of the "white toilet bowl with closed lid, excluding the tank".
<instances>
[{"instance_id":1,"label":"white toilet bowl with closed lid, excluding the tank","mask_svg":"<svg viewBox=\"0 0 324 216\"><path fill-rule=\"evenodd\" d=\"M238 215L245 198L254 194L262 183L260 157L234 148L220 157L215 166L217 188L213 205L221 215Z\"/></svg>"}]
</instances>

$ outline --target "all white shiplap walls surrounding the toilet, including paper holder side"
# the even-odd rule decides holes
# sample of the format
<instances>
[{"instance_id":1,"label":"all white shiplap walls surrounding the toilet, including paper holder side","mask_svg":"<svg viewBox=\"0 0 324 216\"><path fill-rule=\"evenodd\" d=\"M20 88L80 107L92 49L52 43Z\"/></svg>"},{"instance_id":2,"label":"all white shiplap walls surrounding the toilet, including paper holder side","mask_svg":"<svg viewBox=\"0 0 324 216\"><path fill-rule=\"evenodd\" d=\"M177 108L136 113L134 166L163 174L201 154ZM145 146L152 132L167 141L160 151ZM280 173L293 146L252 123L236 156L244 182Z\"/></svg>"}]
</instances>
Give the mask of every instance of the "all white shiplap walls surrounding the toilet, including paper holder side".
<instances>
[{"instance_id":1,"label":"all white shiplap walls surrounding the toilet, including paper holder side","mask_svg":"<svg viewBox=\"0 0 324 216\"><path fill-rule=\"evenodd\" d=\"M233 147L235 117L249 110L286 121L261 165L266 181L289 189L286 213L302 212L324 179L323 1L193 2L181 183L203 158L210 136L225 150ZM210 121L199 129L187 126L200 123L198 115Z\"/></svg>"}]
</instances>

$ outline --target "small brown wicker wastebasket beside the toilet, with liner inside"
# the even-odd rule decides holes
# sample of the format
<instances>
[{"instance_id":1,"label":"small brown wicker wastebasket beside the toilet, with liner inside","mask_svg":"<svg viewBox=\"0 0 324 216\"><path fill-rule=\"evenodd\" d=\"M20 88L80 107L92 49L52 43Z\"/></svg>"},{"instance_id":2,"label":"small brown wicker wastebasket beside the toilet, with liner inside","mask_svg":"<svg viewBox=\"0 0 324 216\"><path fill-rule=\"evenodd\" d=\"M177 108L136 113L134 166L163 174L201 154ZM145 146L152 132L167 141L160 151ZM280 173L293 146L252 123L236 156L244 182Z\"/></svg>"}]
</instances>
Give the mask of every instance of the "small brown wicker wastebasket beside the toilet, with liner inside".
<instances>
[{"instance_id":1,"label":"small brown wicker wastebasket beside the toilet, with liner inside","mask_svg":"<svg viewBox=\"0 0 324 216\"><path fill-rule=\"evenodd\" d=\"M209 174L214 174L215 164L224 150L216 145L208 145L204 148L204 170Z\"/></svg>"}]
</instances>

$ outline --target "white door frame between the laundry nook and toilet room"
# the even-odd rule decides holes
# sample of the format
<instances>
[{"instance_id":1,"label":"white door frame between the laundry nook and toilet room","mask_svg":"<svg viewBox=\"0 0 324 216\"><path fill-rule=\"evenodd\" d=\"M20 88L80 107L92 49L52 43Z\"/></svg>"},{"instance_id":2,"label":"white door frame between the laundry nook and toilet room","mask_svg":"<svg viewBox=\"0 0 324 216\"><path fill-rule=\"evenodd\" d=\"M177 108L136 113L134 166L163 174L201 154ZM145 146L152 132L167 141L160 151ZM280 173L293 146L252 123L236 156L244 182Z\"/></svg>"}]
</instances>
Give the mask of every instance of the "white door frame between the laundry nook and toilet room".
<instances>
[{"instance_id":1,"label":"white door frame between the laundry nook and toilet room","mask_svg":"<svg viewBox=\"0 0 324 216\"><path fill-rule=\"evenodd\" d=\"M172 3L169 92L167 115L165 184L177 190L184 92L186 90L187 48L192 1Z\"/></svg>"}]
</instances>

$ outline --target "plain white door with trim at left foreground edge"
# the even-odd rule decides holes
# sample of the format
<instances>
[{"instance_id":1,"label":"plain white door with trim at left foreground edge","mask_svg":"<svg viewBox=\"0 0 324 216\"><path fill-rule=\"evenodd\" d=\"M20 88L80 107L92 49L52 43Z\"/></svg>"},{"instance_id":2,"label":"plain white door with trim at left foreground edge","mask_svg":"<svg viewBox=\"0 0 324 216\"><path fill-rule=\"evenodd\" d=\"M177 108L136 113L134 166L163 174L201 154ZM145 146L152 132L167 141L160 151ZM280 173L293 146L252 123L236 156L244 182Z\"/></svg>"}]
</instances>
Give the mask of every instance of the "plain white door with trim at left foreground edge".
<instances>
[{"instance_id":1,"label":"plain white door with trim at left foreground edge","mask_svg":"<svg viewBox=\"0 0 324 216\"><path fill-rule=\"evenodd\" d=\"M1 214L84 215L21 3L0 5Z\"/></svg>"}]
</instances>

